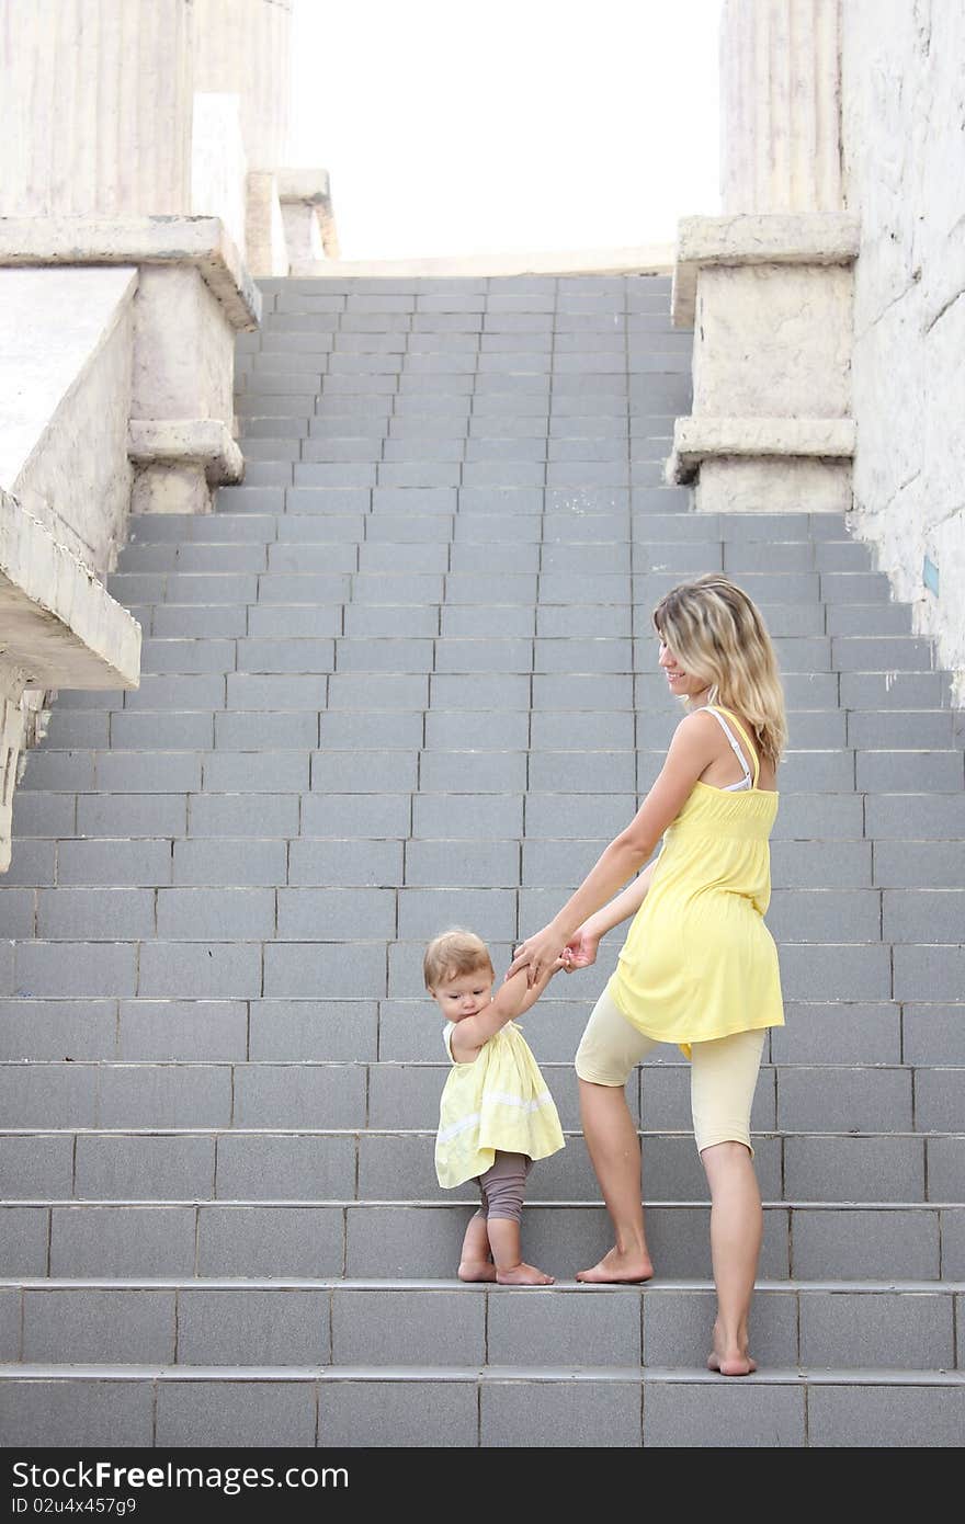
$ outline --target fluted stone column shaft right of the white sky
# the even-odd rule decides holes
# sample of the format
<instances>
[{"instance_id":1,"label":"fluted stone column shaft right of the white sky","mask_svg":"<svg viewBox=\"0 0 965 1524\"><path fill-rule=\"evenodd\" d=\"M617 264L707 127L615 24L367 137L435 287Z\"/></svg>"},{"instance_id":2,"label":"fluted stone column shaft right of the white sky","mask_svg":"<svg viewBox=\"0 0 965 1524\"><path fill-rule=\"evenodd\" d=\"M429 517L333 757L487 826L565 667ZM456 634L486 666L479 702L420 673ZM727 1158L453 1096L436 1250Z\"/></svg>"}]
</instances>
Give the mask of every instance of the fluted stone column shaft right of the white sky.
<instances>
[{"instance_id":1,"label":"fluted stone column shaft right of the white sky","mask_svg":"<svg viewBox=\"0 0 965 1524\"><path fill-rule=\"evenodd\" d=\"M726 0L724 212L840 212L838 0Z\"/></svg>"}]
</instances>

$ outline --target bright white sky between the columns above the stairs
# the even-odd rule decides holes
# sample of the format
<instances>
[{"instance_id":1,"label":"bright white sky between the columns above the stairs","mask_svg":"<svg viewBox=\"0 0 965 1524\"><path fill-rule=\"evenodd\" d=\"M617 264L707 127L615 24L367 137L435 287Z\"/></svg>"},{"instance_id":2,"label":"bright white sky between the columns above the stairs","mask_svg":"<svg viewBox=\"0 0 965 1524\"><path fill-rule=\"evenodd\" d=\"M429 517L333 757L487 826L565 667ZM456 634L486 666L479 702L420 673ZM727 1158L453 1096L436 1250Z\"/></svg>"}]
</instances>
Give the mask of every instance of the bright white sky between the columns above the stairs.
<instances>
[{"instance_id":1,"label":"bright white sky between the columns above the stairs","mask_svg":"<svg viewBox=\"0 0 965 1524\"><path fill-rule=\"evenodd\" d=\"M718 210L720 0L296 0L341 255L672 242Z\"/></svg>"}]
</instances>

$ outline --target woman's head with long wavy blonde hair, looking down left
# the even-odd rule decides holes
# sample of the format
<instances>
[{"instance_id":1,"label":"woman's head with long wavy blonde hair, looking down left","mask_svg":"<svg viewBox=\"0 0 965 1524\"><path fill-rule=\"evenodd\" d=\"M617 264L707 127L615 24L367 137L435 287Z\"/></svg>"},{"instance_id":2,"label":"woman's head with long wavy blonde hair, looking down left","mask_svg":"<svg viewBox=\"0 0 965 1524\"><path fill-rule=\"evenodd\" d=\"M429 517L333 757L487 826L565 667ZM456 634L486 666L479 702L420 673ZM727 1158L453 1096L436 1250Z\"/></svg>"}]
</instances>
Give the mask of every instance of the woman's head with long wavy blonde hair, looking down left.
<instances>
[{"instance_id":1,"label":"woman's head with long wavy blonde hair, looking down left","mask_svg":"<svg viewBox=\"0 0 965 1524\"><path fill-rule=\"evenodd\" d=\"M747 593L718 572L660 599L654 626L686 672L704 678L710 703L747 719L777 767L787 745L784 687L764 620Z\"/></svg>"}]
</instances>

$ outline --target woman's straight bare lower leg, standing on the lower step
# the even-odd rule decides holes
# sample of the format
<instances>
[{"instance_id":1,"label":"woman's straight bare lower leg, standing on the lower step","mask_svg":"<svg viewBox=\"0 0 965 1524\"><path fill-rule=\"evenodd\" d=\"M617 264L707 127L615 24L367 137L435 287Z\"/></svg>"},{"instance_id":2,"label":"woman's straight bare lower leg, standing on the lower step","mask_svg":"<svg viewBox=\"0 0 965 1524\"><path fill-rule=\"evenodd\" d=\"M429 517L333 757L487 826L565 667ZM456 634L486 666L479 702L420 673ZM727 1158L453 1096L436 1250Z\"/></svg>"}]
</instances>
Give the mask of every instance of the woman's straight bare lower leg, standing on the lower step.
<instances>
[{"instance_id":1,"label":"woman's straight bare lower leg, standing on the lower step","mask_svg":"<svg viewBox=\"0 0 965 1524\"><path fill-rule=\"evenodd\" d=\"M764 1213L750 1152L742 1143L715 1143L700 1155L710 1184L710 1259L717 1286L717 1323L710 1370L749 1376L747 1320L753 1297Z\"/></svg>"}]
</instances>

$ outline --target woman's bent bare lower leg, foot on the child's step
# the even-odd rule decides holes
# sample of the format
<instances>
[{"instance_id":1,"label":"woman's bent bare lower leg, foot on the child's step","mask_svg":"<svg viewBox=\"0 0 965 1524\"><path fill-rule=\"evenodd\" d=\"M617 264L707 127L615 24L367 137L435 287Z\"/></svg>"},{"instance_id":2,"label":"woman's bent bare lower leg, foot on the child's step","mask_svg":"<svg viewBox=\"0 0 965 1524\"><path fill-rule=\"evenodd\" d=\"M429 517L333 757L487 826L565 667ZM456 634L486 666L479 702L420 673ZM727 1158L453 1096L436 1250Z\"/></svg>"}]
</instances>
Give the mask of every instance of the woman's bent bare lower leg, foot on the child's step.
<instances>
[{"instance_id":1,"label":"woman's bent bare lower leg, foot on the child's step","mask_svg":"<svg viewBox=\"0 0 965 1524\"><path fill-rule=\"evenodd\" d=\"M616 1244L592 1269L581 1269L576 1280L649 1280L654 1266L643 1233L640 1140L627 1094L620 1085L595 1085L581 1079L579 1113Z\"/></svg>"}]
</instances>

